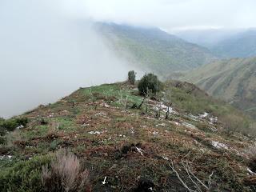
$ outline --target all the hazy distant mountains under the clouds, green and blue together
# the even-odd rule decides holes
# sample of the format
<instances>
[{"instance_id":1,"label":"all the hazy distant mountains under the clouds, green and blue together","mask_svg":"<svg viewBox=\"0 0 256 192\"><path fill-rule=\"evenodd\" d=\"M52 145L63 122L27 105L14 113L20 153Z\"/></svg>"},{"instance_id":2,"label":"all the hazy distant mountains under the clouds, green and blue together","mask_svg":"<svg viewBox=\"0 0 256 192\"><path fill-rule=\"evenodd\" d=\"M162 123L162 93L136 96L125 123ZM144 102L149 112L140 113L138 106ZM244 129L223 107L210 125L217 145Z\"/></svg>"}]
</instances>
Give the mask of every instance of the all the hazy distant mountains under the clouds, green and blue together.
<instances>
[{"instance_id":1,"label":"all the hazy distant mountains under the clouds, green and blue together","mask_svg":"<svg viewBox=\"0 0 256 192\"><path fill-rule=\"evenodd\" d=\"M256 29L188 30L173 35L150 27L106 22L95 26L118 56L162 76L216 59L256 56Z\"/></svg>"}]
</instances>

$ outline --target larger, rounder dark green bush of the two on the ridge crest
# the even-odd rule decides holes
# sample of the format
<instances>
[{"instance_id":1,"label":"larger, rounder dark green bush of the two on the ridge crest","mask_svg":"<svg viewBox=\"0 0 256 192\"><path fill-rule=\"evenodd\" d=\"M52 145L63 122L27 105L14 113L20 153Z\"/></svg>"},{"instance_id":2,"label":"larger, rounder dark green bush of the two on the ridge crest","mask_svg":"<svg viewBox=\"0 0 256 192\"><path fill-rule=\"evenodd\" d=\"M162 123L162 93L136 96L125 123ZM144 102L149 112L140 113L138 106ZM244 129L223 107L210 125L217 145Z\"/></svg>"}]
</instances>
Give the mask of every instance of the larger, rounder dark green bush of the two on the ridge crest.
<instances>
[{"instance_id":1,"label":"larger, rounder dark green bush of the two on the ridge crest","mask_svg":"<svg viewBox=\"0 0 256 192\"><path fill-rule=\"evenodd\" d=\"M162 90L162 82L154 74L145 74L138 82L138 91L144 96L148 94L148 91L155 95L160 90Z\"/></svg>"}]
</instances>

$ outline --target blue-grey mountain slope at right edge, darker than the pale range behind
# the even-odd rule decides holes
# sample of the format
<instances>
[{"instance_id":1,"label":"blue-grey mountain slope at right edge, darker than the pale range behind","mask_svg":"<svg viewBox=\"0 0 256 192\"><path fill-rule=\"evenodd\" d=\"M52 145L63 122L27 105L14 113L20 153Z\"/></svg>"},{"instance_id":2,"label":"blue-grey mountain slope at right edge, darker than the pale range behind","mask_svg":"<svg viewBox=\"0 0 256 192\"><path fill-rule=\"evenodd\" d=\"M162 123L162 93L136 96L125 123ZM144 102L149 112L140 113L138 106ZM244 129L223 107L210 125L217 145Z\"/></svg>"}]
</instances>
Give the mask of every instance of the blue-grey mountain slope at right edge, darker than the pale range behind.
<instances>
[{"instance_id":1,"label":"blue-grey mountain slope at right edge, darker than the pale range behind","mask_svg":"<svg viewBox=\"0 0 256 192\"><path fill-rule=\"evenodd\" d=\"M227 38L210 50L222 58L248 58L256 56L256 30L247 30Z\"/></svg>"}]
</instances>

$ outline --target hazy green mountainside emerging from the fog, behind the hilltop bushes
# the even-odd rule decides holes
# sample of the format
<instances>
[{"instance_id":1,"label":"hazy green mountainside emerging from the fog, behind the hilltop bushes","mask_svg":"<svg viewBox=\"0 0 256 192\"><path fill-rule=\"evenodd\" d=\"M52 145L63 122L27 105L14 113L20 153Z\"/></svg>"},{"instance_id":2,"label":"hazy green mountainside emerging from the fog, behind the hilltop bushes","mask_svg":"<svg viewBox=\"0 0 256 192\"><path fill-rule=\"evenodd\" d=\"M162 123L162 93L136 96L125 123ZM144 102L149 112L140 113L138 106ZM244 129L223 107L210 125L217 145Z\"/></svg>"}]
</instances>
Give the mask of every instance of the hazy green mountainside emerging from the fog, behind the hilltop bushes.
<instances>
[{"instance_id":1,"label":"hazy green mountainside emerging from the fog, behind the hilltop bushes","mask_svg":"<svg viewBox=\"0 0 256 192\"><path fill-rule=\"evenodd\" d=\"M110 46L126 59L157 74L189 70L214 59L202 46L183 41L157 28L98 23Z\"/></svg>"}]
</instances>

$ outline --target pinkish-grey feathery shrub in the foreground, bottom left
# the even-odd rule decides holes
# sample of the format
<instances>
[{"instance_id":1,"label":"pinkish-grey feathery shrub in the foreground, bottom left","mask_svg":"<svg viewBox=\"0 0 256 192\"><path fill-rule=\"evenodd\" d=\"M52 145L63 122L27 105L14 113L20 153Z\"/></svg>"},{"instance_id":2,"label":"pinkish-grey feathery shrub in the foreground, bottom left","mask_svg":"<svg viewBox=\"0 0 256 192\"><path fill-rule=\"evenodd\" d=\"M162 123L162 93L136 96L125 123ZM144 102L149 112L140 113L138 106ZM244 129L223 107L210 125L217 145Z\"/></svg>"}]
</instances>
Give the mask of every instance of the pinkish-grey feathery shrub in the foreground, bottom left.
<instances>
[{"instance_id":1,"label":"pinkish-grey feathery shrub in the foreground, bottom left","mask_svg":"<svg viewBox=\"0 0 256 192\"><path fill-rule=\"evenodd\" d=\"M45 191L90 191L88 170L82 170L78 158L66 150L58 151L48 166L42 166Z\"/></svg>"}]
</instances>

